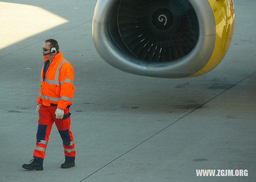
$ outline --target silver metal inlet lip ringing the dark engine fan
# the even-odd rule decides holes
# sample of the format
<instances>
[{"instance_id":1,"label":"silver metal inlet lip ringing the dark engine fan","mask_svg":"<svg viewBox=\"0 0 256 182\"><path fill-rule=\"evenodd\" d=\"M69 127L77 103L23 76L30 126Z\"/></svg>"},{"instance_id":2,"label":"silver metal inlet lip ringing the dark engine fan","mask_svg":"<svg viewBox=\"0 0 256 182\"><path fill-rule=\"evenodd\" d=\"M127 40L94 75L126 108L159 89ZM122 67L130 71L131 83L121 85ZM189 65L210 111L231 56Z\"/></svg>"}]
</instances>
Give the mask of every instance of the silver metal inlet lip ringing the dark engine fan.
<instances>
[{"instance_id":1,"label":"silver metal inlet lip ringing the dark engine fan","mask_svg":"<svg viewBox=\"0 0 256 182\"><path fill-rule=\"evenodd\" d=\"M208 0L188 0L196 12L199 38L196 47L174 62L148 62L131 56L113 41L109 33L110 12L120 0L98 0L92 23L92 37L98 54L113 67L124 72L158 78L181 78L202 69L212 56L216 24Z\"/></svg>"}]
</instances>

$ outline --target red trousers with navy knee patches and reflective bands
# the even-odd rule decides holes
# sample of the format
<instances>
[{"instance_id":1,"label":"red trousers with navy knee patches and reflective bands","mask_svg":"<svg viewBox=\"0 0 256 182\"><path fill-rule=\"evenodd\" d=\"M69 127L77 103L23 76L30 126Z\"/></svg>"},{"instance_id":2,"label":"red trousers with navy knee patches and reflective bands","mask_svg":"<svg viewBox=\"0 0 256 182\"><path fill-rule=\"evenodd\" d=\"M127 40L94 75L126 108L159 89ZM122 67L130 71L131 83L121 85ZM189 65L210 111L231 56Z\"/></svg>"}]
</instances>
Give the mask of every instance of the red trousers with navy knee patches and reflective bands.
<instances>
[{"instance_id":1,"label":"red trousers with navy knee patches and reflective bands","mask_svg":"<svg viewBox=\"0 0 256 182\"><path fill-rule=\"evenodd\" d=\"M55 115L57 106L44 106L39 108L38 129L36 133L36 148L34 150L34 159L43 164L46 146L49 141L49 135L52 124L55 123L63 141L64 155L66 161L74 161L76 156L75 144L72 132L70 131L70 113L69 109L64 110L63 119L57 119Z\"/></svg>"}]
</instances>

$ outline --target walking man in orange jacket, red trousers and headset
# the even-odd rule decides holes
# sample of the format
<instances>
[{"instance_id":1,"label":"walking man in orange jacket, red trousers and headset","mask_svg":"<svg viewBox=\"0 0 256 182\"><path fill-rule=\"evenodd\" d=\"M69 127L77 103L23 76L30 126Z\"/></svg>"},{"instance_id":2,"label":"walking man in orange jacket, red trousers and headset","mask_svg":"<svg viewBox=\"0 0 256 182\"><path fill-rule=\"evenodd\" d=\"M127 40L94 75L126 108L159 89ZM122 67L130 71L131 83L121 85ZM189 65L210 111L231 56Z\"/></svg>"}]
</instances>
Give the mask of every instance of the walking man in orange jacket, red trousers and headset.
<instances>
[{"instance_id":1,"label":"walking man in orange jacket, red trousers and headset","mask_svg":"<svg viewBox=\"0 0 256 182\"><path fill-rule=\"evenodd\" d=\"M75 166L75 144L70 131L69 107L74 94L74 70L59 51L58 42L47 39L43 45L44 67L41 71L41 90L36 112L39 114L34 159L23 164L28 170L43 170L46 145L52 124L55 123L63 141L65 162L61 168Z\"/></svg>"}]
</instances>

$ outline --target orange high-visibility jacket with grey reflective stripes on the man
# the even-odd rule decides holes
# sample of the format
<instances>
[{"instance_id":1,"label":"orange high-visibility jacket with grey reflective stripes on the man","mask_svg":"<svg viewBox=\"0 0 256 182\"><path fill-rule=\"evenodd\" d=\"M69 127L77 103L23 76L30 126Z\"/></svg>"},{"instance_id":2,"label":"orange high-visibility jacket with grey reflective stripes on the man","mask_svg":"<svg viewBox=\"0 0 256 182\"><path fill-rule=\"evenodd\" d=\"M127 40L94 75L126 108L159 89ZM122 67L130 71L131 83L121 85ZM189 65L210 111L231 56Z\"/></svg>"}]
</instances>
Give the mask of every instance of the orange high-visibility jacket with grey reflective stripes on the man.
<instances>
[{"instance_id":1,"label":"orange high-visibility jacket with grey reflective stripes on the man","mask_svg":"<svg viewBox=\"0 0 256 182\"><path fill-rule=\"evenodd\" d=\"M47 61L46 58L44 58ZM37 104L50 106L57 104L58 108L65 110L68 105L72 105L74 94L74 70L72 65L68 63L59 53L54 57L52 63L43 79L43 70L41 71L41 90L38 96Z\"/></svg>"}]
</instances>

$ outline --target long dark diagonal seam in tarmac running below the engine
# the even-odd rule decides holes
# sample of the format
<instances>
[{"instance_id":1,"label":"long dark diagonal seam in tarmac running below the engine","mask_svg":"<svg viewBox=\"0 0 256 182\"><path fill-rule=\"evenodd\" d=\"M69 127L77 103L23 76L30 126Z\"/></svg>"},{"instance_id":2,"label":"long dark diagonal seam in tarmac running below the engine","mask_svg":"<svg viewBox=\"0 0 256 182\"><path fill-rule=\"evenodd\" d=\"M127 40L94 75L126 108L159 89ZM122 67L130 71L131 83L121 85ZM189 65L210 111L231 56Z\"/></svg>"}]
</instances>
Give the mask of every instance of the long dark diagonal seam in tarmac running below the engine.
<instances>
[{"instance_id":1,"label":"long dark diagonal seam in tarmac running below the engine","mask_svg":"<svg viewBox=\"0 0 256 182\"><path fill-rule=\"evenodd\" d=\"M254 73L256 73L256 71L255 71L255 72L253 72L252 74L254 74ZM246 78L250 77L252 74L250 74L249 76L246 76ZM234 84L234 85L230 86L229 88L227 88L226 90L224 90L224 91L223 91L223 92L221 92L220 94L222 94L222 93L226 92L227 90L229 90L229 89L230 89L230 88L232 88L233 86L237 85L238 83L242 82L242 81L243 81L243 80L245 80L246 78L244 78L244 79L240 80L239 82L237 82L236 84ZM220 94L218 94L218 95L214 96L213 98L211 98L210 100L208 100L208 101L207 101L207 102L205 102L204 104L206 104L206 103L210 102L210 101L211 101L211 100L213 100L214 98L218 97ZM192 110L192 111L191 111L191 112L189 112L188 114L186 114L186 115L184 115L184 116L180 117L180 119L182 119L183 117L185 117L185 116L189 115L190 113L194 112L194 111L195 111L195 110L197 110L198 108L202 107L204 104L202 104L201 106L199 106L199 107L197 107L196 109ZM177 121L179 121L180 119L178 119L178 120L174 121L172 124L176 123L176 122L177 122ZM164 129L166 129L166 128L170 127L172 124L168 125L168 126L167 126L167 127L165 127ZM151 136L151 137L149 137L148 139L151 139L152 137L154 137L155 135L157 135L158 133L160 133L160 132L161 132L161 131L163 131L164 129L162 129L162 130L158 131L156 134L152 135L152 136ZM144 140L142 143L144 143L144 142L145 142L145 141L147 141L148 139ZM119 157L117 157L116 159L118 159L118 158L122 157L123 155L127 154L128 152L130 152L131 150L135 149L136 147L138 147L138 146L139 146L139 145L141 145L142 143L140 143L140 144L136 145L135 147L133 147L132 149L130 149L130 150L129 150L129 151L127 151L126 153L124 153L124 154L120 155L120 156L119 156ZM111 161L111 162L109 162L108 164L110 164L110 163L114 162L116 159L112 160L112 161ZM105 166L103 166L102 168L106 167L108 164L106 164L106 165L105 165ZM96 170L96 171L95 171L95 172L93 172L92 174L94 174L94 173L98 172L98 171L99 171L99 170L101 170L102 168L100 168L100 169ZM89 175L89 176L87 176L86 178L88 178L88 177L92 176L92 174L90 174L90 175ZM82 179L80 182L82 182L82 181L83 181L83 180L85 180L86 178Z\"/></svg>"}]
</instances>

